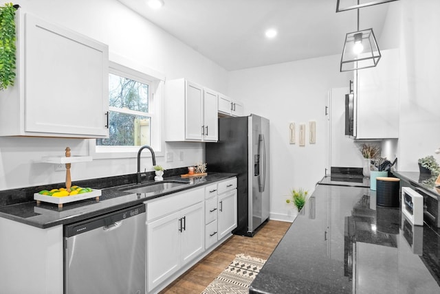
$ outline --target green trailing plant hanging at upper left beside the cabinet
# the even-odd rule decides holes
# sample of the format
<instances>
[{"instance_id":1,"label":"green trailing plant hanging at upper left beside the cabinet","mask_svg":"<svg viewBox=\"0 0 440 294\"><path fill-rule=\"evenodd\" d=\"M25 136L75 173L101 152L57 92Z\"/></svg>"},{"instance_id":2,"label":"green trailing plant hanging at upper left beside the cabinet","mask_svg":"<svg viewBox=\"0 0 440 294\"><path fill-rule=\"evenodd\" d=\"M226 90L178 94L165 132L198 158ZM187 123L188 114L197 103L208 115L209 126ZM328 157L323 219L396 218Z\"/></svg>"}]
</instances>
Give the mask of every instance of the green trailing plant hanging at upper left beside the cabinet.
<instances>
[{"instance_id":1,"label":"green trailing plant hanging at upper left beside the cabinet","mask_svg":"<svg viewBox=\"0 0 440 294\"><path fill-rule=\"evenodd\" d=\"M15 80L15 10L17 5L0 6L0 90L14 85Z\"/></svg>"}]
</instances>

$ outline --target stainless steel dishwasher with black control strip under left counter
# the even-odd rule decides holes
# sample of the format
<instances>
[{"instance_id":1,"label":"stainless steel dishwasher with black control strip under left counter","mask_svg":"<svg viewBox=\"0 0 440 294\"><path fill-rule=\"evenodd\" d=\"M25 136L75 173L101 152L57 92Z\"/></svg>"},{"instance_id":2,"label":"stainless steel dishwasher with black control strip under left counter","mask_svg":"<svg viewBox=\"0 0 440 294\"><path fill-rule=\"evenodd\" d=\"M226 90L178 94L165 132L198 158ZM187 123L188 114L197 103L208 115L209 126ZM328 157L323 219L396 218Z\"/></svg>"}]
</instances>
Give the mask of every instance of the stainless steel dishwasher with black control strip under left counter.
<instances>
[{"instance_id":1,"label":"stainless steel dishwasher with black control strip under left counter","mask_svg":"<svg viewBox=\"0 0 440 294\"><path fill-rule=\"evenodd\" d=\"M145 205L64 228L64 289L74 293L145 293Z\"/></svg>"}]
</instances>

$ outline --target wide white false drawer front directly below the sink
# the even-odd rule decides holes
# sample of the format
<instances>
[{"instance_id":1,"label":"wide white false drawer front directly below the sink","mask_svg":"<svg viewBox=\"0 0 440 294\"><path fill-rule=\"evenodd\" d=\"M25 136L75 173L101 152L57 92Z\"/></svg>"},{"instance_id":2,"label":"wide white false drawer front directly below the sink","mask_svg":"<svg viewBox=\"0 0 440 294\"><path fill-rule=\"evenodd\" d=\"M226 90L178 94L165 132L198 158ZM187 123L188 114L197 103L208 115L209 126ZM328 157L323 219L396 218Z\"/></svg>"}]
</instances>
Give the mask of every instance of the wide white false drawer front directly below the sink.
<instances>
[{"instance_id":1,"label":"wide white false drawer front directly below the sink","mask_svg":"<svg viewBox=\"0 0 440 294\"><path fill-rule=\"evenodd\" d=\"M176 212L177 210L182 210L185 207L203 201L203 199L204 190L203 188L198 188L187 192L171 194L170 196L163 196L157 200L155 199L151 202L146 202L146 221L148 222L149 220L153 220L160 216Z\"/></svg>"}]
</instances>

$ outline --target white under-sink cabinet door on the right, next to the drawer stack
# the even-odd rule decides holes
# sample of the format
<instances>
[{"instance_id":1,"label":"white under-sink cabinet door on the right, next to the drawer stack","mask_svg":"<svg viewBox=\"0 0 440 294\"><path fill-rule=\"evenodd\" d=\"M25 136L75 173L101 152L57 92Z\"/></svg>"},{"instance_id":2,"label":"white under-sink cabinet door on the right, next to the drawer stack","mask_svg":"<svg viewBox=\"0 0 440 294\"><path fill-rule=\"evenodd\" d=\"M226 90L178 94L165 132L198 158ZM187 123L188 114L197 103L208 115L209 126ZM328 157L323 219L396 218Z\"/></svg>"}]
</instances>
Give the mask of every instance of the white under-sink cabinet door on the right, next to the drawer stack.
<instances>
[{"instance_id":1,"label":"white under-sink cabinet door on the right, next to the drawer stack","mask_svg":"<svg viewBox=\"0 0 440 294\"><path fill-rule=\"evenodd\" d=\"M203 202L181 210L181 264L197 257L204 249Z\"/></svg>"}]
</instances>

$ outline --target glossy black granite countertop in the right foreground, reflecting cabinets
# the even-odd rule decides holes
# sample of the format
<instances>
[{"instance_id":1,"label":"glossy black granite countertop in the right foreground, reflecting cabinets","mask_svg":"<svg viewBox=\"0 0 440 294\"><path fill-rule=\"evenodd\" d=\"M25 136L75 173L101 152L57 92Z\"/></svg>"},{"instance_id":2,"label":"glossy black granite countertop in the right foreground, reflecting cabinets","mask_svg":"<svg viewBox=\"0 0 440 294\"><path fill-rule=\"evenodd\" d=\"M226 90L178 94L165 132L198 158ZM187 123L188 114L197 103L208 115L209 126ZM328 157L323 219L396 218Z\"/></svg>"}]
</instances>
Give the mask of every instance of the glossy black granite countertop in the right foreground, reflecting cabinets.
<instances>
[{"instance_id":1,"label":"glossy black granite countertop in the right foreground, reflecting cabinets","mask_svg":"<svg viewBox=\"0 0 440 294\"><path fill-rule=\"evenodd\" d=\"M317 185L250 293L440 293L440 235L375 191Z\"/></svg>"}]
</instances>

